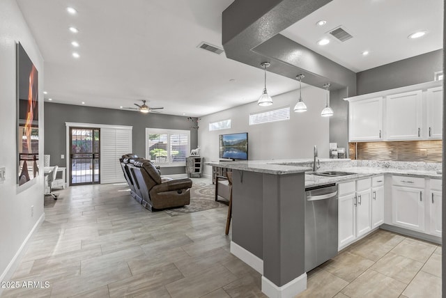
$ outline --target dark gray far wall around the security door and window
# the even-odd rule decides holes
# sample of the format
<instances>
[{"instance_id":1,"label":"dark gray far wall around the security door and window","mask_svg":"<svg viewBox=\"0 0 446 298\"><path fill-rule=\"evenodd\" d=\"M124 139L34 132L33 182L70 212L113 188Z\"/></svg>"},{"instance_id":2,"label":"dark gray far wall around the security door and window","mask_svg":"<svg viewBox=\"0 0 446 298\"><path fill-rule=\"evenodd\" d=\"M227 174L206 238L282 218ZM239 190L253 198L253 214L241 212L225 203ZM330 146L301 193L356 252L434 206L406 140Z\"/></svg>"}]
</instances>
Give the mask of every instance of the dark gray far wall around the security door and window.
<instances>
[{"instance_id":1,"label":"dark gray far wall around the security door and window","mask_svg":"<svg viewBox=\"0 0 446 298\"><path fill-rule=\"evenodd\" d=\"M133 153L141 157L146 155L146 127L190 130L190 148L197 148L198 143L197 129L190 128L197 125L196 118L192 125L192 121L183 116L45 102L45 154L51 155L52 166L66 166L66 159L61 159L61 155L66 155L66 122L132 126ZM185 173L185 167L164 167L161 173Z\"/></svg>"}]
</instances>

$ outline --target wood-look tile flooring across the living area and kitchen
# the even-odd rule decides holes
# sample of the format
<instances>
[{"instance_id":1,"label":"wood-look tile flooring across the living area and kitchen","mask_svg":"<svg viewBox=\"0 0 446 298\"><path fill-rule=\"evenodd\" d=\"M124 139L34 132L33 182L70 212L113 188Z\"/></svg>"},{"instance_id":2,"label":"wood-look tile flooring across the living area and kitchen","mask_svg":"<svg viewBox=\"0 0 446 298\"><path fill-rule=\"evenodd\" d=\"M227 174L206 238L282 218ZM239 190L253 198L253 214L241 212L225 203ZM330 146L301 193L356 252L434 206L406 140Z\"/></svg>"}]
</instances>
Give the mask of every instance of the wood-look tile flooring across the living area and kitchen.
<instances>
[{"instance_id":1,"label":"wood-look tile flooring across the living area and kitchen","mask_svg":"<svg viewBox=\"0 0 446 298\"><path fill-rule=\"evenodd\" d=\"M171 217L125 185L56 192L10 279L49 287L1 297L266 297L261 275L229 253L226 208ZM441 297L440 285L439 246L378 230L309 272L298 297Z\"/></svg>"}]
</instances>

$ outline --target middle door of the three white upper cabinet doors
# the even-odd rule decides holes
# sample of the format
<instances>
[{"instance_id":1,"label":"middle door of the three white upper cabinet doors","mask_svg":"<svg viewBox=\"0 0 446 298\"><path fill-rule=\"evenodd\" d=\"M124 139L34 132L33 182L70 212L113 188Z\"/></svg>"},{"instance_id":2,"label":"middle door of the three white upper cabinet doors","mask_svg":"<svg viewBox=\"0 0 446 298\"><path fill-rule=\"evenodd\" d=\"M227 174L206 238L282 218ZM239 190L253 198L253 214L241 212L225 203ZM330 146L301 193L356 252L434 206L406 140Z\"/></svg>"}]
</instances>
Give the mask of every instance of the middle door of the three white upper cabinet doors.
<instances>
[{"instance_id":1,"label":"middle door of the three white upper cabinet doors","mask_svg":"<svg viewBox=\"0 0 446 298\"><path fill-rule=\"evenodd\" d=\"M388 95L385 98L385 139L422 138L422 91Z\"/></svg>"}]
</instances>

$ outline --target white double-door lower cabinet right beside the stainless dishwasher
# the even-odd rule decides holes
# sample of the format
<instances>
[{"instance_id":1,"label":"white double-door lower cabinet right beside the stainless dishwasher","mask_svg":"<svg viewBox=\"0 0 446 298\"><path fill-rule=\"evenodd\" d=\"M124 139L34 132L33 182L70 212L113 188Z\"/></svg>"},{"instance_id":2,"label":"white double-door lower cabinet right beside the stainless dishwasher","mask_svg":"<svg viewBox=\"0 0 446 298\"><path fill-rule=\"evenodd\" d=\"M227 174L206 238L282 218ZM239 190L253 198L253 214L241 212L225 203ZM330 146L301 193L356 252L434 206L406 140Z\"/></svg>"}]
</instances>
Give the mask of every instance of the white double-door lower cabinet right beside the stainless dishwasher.
<instances>
[{"instance_id":1,"label":"white double-door lower cabinet right beside the stainless dishwasher","mask_svg":"<svg viewBox=\"0 0 446 298\"><path fill-rule=\"evenodd\" d=\"M371 230L370 178L338 185L338 249Z\"/></svg>"}]
</instances>

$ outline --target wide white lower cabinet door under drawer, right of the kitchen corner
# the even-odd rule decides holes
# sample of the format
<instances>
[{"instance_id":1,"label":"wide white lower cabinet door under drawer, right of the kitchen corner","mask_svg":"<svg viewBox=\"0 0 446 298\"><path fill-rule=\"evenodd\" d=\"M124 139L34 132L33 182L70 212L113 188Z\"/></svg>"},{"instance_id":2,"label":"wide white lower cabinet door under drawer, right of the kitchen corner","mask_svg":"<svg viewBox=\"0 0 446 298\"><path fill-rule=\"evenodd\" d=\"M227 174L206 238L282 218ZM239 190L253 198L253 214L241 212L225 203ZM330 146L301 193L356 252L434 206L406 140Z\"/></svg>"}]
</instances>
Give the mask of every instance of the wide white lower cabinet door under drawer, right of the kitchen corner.
<instances>
[{"instance_id":1,"label":"wide white lower cabinet door under drawer, right of the kitchen corner","mask_svg":"<svg viewBox=\"0 0 446 298\"><path fill-rule=\"evenodd\" d=\"M424 189L392 187L392 224L424 232Z\"/></svg>"}]
</instances>

